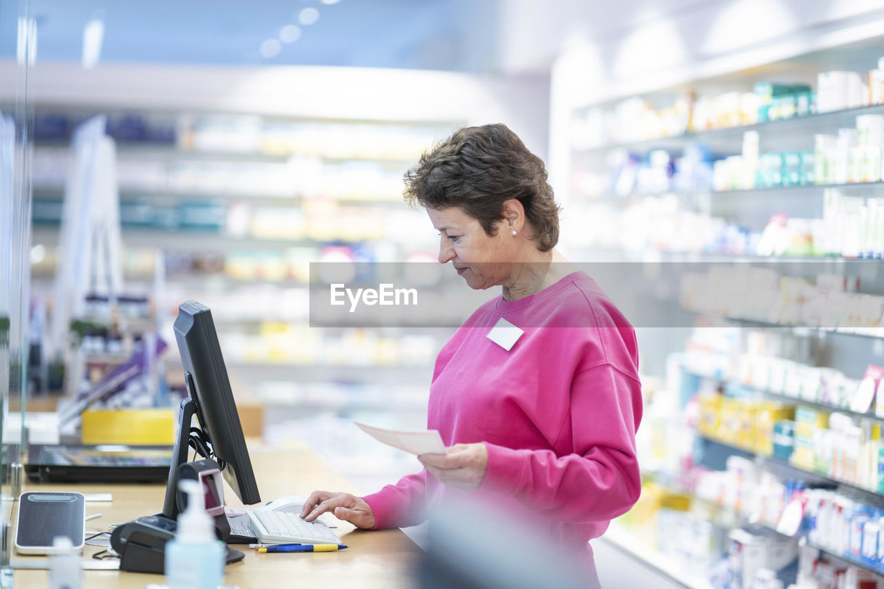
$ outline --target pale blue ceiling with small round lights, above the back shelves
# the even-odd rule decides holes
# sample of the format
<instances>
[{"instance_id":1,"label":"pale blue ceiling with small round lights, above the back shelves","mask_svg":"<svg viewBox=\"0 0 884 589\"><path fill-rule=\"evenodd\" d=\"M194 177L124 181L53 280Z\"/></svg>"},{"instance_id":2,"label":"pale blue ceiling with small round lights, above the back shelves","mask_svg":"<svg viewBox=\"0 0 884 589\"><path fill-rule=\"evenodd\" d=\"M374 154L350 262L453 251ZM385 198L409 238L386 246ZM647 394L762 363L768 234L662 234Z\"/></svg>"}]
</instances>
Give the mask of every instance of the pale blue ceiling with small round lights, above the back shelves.
<instances>
[{"instance_id":1,"label":"pale blue ceiling with small round lights, above the back shelves","mask_svg":"<svg viewBox=\"0 0 884 589\"><path fill-rule=\"evenodd\" d=\"M17 4L38 29L37 61L79 61L90 19L104 22L102 61L351 65L490 73L498 0L0 0L0 56L15 55ZM301 25L305 7L319 11ZM282 27L301 37L259 53Z\"/></svg>"}]
</instances>

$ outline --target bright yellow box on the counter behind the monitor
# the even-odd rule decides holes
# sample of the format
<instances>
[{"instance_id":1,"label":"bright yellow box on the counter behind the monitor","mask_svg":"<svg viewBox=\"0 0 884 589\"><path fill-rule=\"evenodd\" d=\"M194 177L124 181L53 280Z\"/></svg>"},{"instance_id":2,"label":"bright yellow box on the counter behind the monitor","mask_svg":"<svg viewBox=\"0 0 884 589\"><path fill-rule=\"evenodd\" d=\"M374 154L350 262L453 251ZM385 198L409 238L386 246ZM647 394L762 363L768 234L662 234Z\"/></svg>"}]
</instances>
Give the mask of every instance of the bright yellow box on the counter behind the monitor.
<instances>
[{"instance_id":1,"label":"bright yellow box on the counter behind the monitor","mask_svg":"<svg viewBox=\"0 0 884 589\"><path fill-rule=\"evenodd\" d=\"M88 409L83 411L83 443L165 446L175 441L177 411Z\"/></svg>"}]
</instances>

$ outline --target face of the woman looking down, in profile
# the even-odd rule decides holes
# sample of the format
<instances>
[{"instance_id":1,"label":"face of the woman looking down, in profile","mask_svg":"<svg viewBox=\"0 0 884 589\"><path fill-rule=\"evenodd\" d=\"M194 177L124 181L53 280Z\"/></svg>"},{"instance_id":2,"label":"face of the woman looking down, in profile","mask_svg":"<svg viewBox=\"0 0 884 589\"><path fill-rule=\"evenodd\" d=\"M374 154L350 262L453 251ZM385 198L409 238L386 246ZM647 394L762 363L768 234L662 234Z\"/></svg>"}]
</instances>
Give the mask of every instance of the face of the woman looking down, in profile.
<instances>
[{"instance_id":1,"label":"face of the woman looking down, in profile","mask_svg":"<svg viewBox=\"0 0 884 589\"><path fill-rule=\"evenodd\" d=\"M506 284L518 245L502 221L497 234L488 235L476 218L457 207L428 208L427 214L439 232L439 264L451 262L470 288Z\"/></svg>"}]
</instances>

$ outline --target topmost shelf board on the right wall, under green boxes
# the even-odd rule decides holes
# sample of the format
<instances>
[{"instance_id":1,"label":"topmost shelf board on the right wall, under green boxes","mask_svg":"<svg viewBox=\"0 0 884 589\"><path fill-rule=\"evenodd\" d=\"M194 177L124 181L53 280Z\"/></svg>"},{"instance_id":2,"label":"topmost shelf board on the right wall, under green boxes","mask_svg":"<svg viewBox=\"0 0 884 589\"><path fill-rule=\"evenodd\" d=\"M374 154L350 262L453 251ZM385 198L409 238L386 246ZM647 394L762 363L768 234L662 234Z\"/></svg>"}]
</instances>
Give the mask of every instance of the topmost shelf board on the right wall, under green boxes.
<instances>
[{"instance_id":1,"label":"topmost shelf board on the right wall, under green boxes","mask_svg":"<svg viewBox=\"0 0 884 589\"><path fill-rule=\"evenodd\" d=\"M839 126L850 124L853 126L858 115L884 112L884 104L873 104L841 111L818 112L804 117L792 117L790 119L777 119L756 123L754 125L728 126L720 129L709 129L672 135L669 137L655 137L635 142L614 142L588 149L574 149L576 154L599 154L613 149L629 149L630 151L649 151L651 149L679 149L689 142L704 142L722 138L731 138L742 135L747 131L775 132L778 134L811 133L819 129L831 129L834 132Z\"/></svg>"}]
</instances>

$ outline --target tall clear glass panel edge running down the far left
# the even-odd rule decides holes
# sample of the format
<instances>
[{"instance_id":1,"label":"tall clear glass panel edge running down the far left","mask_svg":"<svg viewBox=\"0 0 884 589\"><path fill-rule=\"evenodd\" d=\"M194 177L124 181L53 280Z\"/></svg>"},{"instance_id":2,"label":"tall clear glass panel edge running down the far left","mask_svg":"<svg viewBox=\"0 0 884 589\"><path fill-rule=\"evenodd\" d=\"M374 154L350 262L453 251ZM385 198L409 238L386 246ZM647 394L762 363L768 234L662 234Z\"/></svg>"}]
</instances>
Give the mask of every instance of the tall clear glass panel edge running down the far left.
<instances>
[{"instance_id":1,"label":"tall clear glass panel edge running down the far left","mask_svg":"<svg viewBox=\"0 0 884 589\"><path fill-rule=\"evenodd\" d=\"M13 501L21 492L24 451L27 325L30 297L31 186L27 67L36 51L36 24L27 0L0 0L0 44L15 57L0 68L0 586L11 586ZM5 52L4 52L5 54Z\"/></svg>"}]
</instances>

